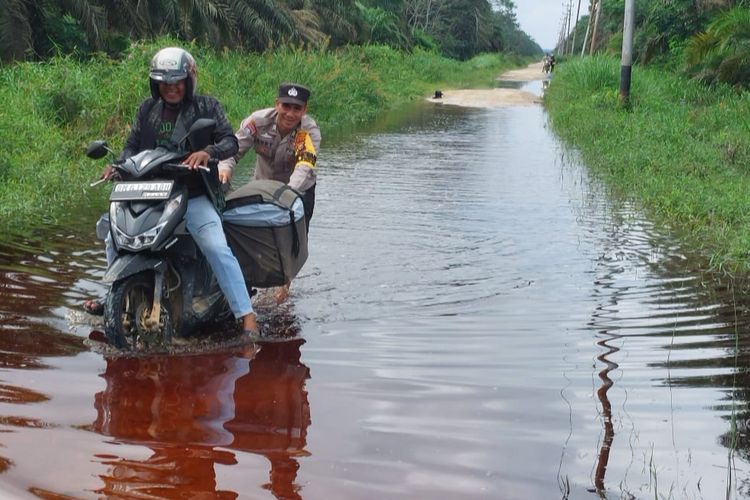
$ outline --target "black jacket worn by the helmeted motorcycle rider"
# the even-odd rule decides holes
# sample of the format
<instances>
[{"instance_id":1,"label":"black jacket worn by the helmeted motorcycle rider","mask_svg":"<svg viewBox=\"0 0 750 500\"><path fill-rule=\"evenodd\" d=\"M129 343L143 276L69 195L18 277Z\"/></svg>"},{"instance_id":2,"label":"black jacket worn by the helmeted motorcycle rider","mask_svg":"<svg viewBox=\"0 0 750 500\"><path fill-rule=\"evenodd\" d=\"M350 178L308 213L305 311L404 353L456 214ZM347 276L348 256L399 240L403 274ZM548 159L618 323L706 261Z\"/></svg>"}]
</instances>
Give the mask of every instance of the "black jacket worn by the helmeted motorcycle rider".
<instances>
[{"instance_id":1,"label":"black jacket worn by the helmeted motorcycle rider","mask_svg":"<svg viewBox=\"0 0 750 500\"><path fill-rule=\"evenodd\" d=\"M141 103L135 120L133 120L130 135L120 154L120 160L145 149L156 147L156 134L161 124L163 110L164 101L161 99L149 97ZM199 118L212 118L216 121L214 143L205 149L211 158L223 160L237 153L239 146L237 137L234 135L234 129L224 114L224 109L219 101L210 96L196 95L191 100L183 102L175 121L172 139L178 141L185 137L190 126ZM221 210L224 207L224 194L219 184L217 169L212 168L210 173L201 170L201 177L214 205L218 210Z\"/></svg>"}]
</instances>

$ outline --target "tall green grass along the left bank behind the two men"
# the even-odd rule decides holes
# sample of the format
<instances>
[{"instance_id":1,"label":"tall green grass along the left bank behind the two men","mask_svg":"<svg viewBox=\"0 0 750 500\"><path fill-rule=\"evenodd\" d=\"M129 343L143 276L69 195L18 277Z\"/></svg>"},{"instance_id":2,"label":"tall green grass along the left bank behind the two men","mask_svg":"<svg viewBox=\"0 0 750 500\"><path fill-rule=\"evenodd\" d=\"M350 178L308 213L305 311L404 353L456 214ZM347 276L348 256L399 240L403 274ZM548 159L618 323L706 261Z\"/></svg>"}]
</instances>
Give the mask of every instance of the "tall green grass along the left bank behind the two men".
<instances>
[{"instance_id":1,"label":"tall green grass along the left bank behind the two men","mask_svg":"<svg viewBox=\"0 0 750 500\"><path fill-rule=\"evenodd\" d=\"M0 66L0 225L55 221L92 202L105 206L109 189L88 187L104 164L87 159L84 149L99 138L122 147L149 93L148 63L170 45L180 42L137 43L120 60L59 57ZM335 52L283 47L261 54L182 46L197 60L199 92L216 96L234 127L251 111L272 106L281 81L296 81L312 88L310 113L324 133L351 130L435 88L491 87L498 74L523 63L501 55L458 62L383 46Z\"/></svg>"}]
</instances>

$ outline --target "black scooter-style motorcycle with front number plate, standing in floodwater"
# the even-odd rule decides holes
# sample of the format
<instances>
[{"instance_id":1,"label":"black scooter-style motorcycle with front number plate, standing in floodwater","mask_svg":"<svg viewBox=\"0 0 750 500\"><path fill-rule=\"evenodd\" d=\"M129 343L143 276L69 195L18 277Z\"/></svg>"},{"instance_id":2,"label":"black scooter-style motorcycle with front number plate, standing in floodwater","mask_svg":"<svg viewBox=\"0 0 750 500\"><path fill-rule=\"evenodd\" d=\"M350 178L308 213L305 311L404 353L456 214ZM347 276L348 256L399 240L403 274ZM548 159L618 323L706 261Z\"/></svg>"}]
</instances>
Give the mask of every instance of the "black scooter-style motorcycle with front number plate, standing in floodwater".
<instances>
[{"instance_id":1,"label":"black scooter-style motorcycle with front number plate, standing in floodwater","mask_svg":"<svg viewBox=\"0 0 750 500\"><path fill-rule=\"evenodd\" d=\"M176 144L111 163L121 180L109 198L109 235L117 257L103 279L110 284L104 333L119 349L168 347L175 336L232 317L184 220L189 169L181 162L210 143L214 127L214 120L196 120ZM108 154L114 157L103 140L86 151L92 159Z\"/></svg>"}]
</instances>

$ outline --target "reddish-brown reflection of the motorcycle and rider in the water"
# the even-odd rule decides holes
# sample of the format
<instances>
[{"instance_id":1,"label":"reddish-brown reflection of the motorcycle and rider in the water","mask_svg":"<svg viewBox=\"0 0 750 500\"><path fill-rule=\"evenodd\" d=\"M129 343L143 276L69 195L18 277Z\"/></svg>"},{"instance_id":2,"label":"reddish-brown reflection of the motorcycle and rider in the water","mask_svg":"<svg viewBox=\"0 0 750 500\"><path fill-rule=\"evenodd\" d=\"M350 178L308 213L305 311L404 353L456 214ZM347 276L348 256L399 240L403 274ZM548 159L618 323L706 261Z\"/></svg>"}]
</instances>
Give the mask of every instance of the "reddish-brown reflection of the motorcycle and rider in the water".
<instances>
[{"instance_id":1,"label":"reddish-brown reflection of the motorcycle and rider in the water","mask_svg":"<svg viewBox=\"0 0 750 500\"><path fill-rule=\"evenodd\" d=\"M298 458L306 456L310 407L302 339L242 352L110 358L95 397L93 429L121 444L146 446L146 459L98 456L101 495L236 498L217 484L219 465L238 453L270 462L262 485L276 498L301 498Z\"/></svg>"}]
</instances>

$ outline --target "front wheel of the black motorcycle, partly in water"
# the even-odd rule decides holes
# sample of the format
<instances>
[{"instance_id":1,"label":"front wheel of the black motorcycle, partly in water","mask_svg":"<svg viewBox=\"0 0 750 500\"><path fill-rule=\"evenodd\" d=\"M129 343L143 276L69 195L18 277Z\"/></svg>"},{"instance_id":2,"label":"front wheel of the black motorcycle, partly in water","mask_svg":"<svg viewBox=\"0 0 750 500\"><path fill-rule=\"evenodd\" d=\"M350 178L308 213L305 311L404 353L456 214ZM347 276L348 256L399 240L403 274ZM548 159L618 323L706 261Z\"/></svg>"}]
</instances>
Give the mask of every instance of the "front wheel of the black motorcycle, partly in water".
<instances>
[{"instance_id":1,"label":"front wheel of the black motorcycle, partly in water","mask_svg":"<svg viewBox=\"0 0 750 500\"><path fill-rule=\"evenodd\" d=\"M104 333L110 344L135 351L168 346L172 341L172 318L162 299L159 324L150 324L154 302L154 277L140 273L116 281L104 304Z\"/></svg>"}]
</instances>

